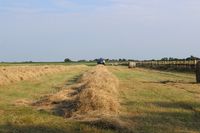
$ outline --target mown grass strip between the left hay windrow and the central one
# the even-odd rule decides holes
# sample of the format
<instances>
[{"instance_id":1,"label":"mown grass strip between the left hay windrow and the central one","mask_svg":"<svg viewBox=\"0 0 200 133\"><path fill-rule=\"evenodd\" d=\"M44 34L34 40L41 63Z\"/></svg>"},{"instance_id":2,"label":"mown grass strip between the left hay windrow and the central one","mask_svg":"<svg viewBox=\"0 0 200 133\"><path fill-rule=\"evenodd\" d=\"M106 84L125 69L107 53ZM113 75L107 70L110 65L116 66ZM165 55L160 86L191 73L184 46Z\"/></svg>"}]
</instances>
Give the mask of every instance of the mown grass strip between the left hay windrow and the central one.
<instances>
[{"instance_id":1,"label":"mown grass strip between the left hay windrow and the central one","mask_svg":"<svg viewBox=\"0 0 200 133\"><path fill-rule=\"evenodd\" d=\"M16 100L37 100L45 94L57 92L65 84L88 68L43 76L37 80L22 81L0 87L0 132L4 133L71 133L111 132L80 122L73 122L33 107L16 105Z\"/></svg>"}]
</instances>

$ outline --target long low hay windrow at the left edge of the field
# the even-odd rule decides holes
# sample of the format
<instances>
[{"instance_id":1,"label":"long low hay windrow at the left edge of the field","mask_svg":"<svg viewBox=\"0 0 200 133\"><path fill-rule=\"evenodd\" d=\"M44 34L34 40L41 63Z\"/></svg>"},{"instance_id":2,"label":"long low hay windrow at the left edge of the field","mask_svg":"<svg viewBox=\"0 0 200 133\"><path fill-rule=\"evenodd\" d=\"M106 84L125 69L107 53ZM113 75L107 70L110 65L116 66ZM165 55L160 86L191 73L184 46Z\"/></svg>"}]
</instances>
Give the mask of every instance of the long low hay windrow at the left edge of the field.
<instances>
[{"instance_id":1,"label":"long low hay windrow at the left edge of the field","mask_svg":"<svg viewBox=\"0 0 200 133\"><path fill-rule=\"evenodd\" d=\"M37 79L46 74L68 71L80 66L6 66L0 67L0 85L15 83L22 80Z\"/></svg>"}]
</instances>

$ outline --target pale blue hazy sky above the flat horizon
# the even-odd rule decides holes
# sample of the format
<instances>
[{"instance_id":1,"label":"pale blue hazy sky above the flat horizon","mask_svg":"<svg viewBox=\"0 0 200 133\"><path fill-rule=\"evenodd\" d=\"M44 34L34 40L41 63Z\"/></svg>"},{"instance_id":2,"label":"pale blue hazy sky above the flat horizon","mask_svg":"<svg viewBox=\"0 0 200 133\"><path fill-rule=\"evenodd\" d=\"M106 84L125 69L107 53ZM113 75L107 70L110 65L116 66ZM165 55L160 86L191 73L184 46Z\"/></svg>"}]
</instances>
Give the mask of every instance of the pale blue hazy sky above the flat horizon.
<instances>
[{"instance_id":1,"label":"pale blue hazy sky above the flat horizon","mask_svg":"<svg viewBox=\"0 0 200 133\"><path fill-rule=\"evenodd\" d=\"M0 0L0 61L200 57L200 0Z\"/></svg>"}]
</instances>

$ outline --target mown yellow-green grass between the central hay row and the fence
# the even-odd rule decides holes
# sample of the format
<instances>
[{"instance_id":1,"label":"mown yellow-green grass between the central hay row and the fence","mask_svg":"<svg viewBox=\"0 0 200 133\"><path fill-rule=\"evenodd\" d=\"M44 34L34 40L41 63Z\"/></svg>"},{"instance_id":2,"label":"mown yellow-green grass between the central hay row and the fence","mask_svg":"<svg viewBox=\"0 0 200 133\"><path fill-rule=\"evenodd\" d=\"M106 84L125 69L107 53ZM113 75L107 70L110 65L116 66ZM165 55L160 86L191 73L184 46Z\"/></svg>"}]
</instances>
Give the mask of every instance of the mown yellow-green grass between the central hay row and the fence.
<instances>
[{"instance_id":1,"label":"mown yellow-green grass between the central hay row and the fence","mask_svg":"<svg viewBox=\"0 0 200 133\"><path fill-rule=\"evenodd\" d=\"M192 74L110 67L120 79L121 118L137 133L199 133L200 85Z\"/></svg>"}]
</instances>

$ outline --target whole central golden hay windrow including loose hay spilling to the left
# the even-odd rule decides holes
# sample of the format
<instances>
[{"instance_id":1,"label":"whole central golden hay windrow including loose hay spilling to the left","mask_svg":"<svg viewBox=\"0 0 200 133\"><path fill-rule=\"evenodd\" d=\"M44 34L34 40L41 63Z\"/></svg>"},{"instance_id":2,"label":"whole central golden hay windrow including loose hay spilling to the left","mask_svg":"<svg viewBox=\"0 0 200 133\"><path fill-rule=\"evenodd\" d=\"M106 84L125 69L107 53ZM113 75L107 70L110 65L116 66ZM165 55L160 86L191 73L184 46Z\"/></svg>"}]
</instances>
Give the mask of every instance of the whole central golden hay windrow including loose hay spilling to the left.
<instances>
[{"instance_id":1,"label":"whole central golden hay windrow including loose hay spilling to the left","mask_svg":"<svg viewBox=\"0 0 200 133\"><path fill-rule=\"evenodd\" d=\"M98 65L83 74L75 85L33 105L68 119L121 130L127 124L118 119L118 85L118 79L105 66Z\"/></svg>"}]
</instances>

